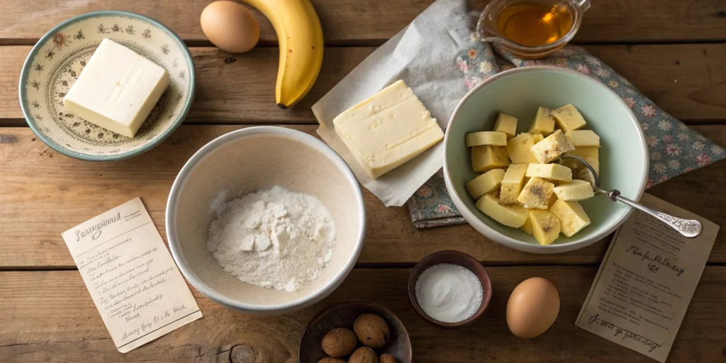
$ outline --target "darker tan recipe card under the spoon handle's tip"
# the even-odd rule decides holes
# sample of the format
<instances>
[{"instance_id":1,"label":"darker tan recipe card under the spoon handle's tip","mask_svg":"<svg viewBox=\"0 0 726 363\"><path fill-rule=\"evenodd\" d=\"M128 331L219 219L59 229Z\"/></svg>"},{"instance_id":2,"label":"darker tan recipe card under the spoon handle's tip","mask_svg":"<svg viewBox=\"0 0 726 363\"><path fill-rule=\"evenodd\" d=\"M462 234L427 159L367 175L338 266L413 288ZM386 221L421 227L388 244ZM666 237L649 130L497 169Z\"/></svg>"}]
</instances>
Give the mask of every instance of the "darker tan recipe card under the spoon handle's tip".
<instances>
[{"instance_id":1,"label":"darker tan recipe card under the spoon handle's tip","mask_svg":"<svg viewBox=\"0 0 726 363\"><path fill-rule=\"evenodd\" d=\"M575 324L665 362L719 226L652 195L640 203L698 219L703 233L689 239L645 213L632 213L613 237Z\"/></svg>"}]
</instances>

